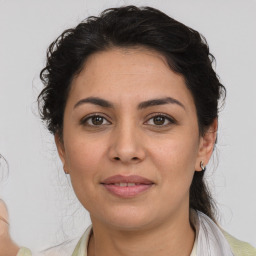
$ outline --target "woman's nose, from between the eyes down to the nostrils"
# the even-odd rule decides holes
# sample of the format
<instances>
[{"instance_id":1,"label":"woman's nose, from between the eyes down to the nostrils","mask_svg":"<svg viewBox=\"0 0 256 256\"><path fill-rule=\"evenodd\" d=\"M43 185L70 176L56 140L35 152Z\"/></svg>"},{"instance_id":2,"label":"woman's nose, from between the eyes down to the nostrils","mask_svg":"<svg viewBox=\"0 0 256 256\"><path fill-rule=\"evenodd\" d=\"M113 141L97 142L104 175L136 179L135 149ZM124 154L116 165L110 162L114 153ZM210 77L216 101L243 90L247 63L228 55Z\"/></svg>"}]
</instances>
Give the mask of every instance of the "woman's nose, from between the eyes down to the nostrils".
<instances>
[{"instance_id":1,"label":"woman's nose, from between the eyes down to the nostrils","mask_svg":"<svg viewBox=\"0 0 256 256\"><path fill-rule=\"evenodd\" d=\"M139 128L119 126L112 131L110 140L108 155L111 161L132 164L144 160L146 152Z\"/></svg>"}]
</instances>

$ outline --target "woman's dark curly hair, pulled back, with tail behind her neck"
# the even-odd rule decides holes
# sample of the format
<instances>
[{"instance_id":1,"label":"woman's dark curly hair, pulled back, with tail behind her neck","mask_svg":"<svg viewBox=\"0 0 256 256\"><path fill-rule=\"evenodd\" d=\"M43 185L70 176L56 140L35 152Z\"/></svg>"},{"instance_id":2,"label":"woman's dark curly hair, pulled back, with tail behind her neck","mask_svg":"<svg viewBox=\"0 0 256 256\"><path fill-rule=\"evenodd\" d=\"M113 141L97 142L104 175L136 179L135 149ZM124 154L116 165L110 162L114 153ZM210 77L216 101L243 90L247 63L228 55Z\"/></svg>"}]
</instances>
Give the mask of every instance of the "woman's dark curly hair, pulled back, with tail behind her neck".
<instances>
[{"instance_id":1,"label":"woman's dark curly hair, pulled back, with tail behind her neck","mask_svg":"<svg viewBox=\"0 0 256 256\"><path fill-rule=\"evenodd\" d=\"M62 137L63 115L72 80L87 58L114 47L146 47L164 56L171 70L181 74L197 111L200 135L218 117L218 102L225 97L212 64L206 39L186 25L151 7L110 8L65 30L48 48L47 63L40 73L44 89L38 96L41 118L48 130ZM223 98L224 98L223 97ZM195 172L190 187L190 207L214 219L214 201Z\"/></svg>"}]
</instances>

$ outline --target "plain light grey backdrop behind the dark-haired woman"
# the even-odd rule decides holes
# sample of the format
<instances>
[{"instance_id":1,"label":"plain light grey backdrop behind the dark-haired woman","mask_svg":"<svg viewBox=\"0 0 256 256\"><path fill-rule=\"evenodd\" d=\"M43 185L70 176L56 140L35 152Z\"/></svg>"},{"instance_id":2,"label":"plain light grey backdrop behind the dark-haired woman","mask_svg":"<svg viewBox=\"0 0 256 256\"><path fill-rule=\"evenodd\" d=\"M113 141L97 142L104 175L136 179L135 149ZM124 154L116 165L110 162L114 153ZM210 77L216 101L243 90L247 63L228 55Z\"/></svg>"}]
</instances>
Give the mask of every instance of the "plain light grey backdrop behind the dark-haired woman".
<instances>
[{"instance_id":1,"label":"plain light grey backdrop behind the dark-haired woman","mask_svg":"<svg viewBox=\"0 0 256 256\"><path fill-rule=\"evenodd\" d=\"M36 97L48 45L66 28L108 7L149 5L201 32L227 88L207 179L220 223L256 246L256 1L0 0L0 197L20 245L49 247L90 223L73 195ZM4 173L3 173L4 172Z\"/></svg>"}]
</instances>

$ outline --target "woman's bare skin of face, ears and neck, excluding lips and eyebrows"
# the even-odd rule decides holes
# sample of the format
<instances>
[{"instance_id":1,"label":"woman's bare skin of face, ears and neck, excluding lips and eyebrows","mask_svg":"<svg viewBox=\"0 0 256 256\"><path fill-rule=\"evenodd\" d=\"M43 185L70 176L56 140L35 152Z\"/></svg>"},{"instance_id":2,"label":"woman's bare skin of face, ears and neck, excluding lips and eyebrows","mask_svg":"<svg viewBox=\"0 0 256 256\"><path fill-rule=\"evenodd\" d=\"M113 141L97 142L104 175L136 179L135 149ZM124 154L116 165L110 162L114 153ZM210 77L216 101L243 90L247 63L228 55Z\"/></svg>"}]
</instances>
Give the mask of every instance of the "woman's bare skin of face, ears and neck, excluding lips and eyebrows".
<instances>
[{"instance_id":1,"label":"woman's bare skin of face, ears and neck, excluding lips and eyebrows","mask_svg":"<svg viewBox=\"0 0 256 256\"><path fill-rule=\"evenodd\" d=\"M113 107L81 103L87 97ZM166 97L176 102L138 109L141 102ZM95 113L103 117L100 125L85 121ZM153 117L159 113L171 121L160 117L157 123ZM216 130L217 120L199 135L184 78L159 53L113 48L90 56L72 82L63 137L55 136L64 171L91 216L88 255L190 255L195 234L189 188L200 162L209 161ZM120 198L101 185L117 174L140 175L154 185Z\"/></svg>"}]
</instances>

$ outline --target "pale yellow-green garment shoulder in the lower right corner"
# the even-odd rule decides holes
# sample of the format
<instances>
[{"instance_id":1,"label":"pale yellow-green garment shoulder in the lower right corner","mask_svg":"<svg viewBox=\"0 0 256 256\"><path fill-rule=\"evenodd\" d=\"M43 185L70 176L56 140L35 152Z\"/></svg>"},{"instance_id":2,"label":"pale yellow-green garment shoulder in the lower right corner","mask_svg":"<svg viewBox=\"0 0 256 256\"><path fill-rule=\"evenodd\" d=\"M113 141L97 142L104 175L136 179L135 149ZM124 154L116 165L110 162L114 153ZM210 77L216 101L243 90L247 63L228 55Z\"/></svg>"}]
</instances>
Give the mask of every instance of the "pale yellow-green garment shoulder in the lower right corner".
<instances>
[{"instance_id":1,"label":"pale yellow-green garment shoulder in the lower right corner","mask_svg":"<svg viewBox=\"0 0 256 256\"><path fill-rule=\"evenodd\" d=\"M256 248L250 244L240 241L222 230L235 256L256 256Z\"/></svg>"}]
</instances>

